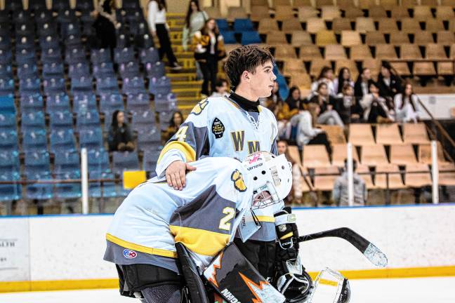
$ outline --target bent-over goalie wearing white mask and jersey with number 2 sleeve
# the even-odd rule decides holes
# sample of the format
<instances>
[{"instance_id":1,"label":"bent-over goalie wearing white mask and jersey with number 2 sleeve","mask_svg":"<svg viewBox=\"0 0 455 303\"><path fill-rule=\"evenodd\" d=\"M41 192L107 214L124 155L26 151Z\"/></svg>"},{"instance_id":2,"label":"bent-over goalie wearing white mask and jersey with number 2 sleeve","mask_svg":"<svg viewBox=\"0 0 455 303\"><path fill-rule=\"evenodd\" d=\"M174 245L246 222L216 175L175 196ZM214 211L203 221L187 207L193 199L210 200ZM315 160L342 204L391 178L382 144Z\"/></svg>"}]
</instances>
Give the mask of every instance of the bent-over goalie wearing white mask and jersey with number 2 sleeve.
<instances>
[{"instance_id":1,"label":"bent-over goalie wearing white mask and jersey with number 2 sleeve","mask_svg":"<svg viewBox=\"0 0 455 303\"><path fill-rule=\"evenodd\" d=\"M175 243L185 245L202 274L232 241L245 213L272 207L291 189L289 162L268 152L244 163L206 157L191 165L197 169L187 174L182 191L154 178L133 189L117 209L104 259L117 265L121 295L180 303Z\"/></svg>"}]
</instances>

